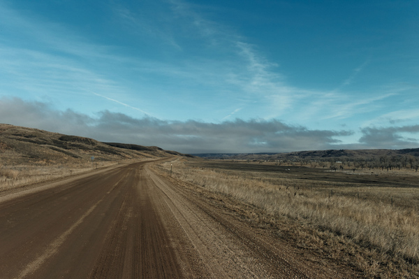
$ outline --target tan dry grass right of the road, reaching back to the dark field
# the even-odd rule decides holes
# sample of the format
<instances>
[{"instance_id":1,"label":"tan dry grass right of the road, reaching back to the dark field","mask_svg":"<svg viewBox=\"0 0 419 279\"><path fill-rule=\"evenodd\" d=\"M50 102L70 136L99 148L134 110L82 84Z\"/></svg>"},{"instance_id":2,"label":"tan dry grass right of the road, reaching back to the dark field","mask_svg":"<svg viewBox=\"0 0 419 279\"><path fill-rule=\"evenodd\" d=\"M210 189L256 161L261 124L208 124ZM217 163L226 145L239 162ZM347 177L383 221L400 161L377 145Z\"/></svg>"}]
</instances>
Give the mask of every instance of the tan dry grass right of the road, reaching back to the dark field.
<instances>
[{"instance_id":1,"label":"tan dry grass right of the road, reaching back to the dark field","mask_svg":"<svg viewBox=\"0 0 419 279\"><path fill-rule=\"evenodd\" d=\"M161 167L170 170L170 164L173 178L261 208L271 218L288 217L302 226L374 250L381 255L379 259L358 262L360 268L361 263L369 261L370 276L385 278L378 272L382 265L393 265L393 270L418 271L418 188L267 178L266 173L204 169L180 161ZM394 262L403 262L407 267L394 266ZM413 278L416 276L417 273Z\"/></svg>"}]
</instances>

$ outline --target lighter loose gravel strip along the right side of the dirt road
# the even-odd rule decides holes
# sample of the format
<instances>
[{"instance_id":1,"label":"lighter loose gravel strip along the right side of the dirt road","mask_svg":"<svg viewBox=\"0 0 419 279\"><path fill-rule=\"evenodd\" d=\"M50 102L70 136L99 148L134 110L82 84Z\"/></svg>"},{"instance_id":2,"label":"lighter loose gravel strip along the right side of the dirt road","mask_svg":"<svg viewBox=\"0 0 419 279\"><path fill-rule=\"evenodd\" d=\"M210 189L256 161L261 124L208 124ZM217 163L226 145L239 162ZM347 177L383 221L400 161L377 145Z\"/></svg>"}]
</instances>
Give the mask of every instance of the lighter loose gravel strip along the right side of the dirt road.
<instances>
[{"instance_id":1,"label":"lighter loose gravel strip along the right side of the dirt road","mask_svg":"<svg viewBox=\"0 0 419 279\"><path fill-rule=\"evenodd\" d=\"M246 225L229 229L232 224L210 205L148 172L166 196L172 215L181 224L183 234L177 237L186 235L193 243L202 259L200 269L208 271L208 278L309 278L284 259L264 257L259 252L260 245L254 243L255 238L244 242L243 232L249 230Z\"/></svg>"}]
</instances>

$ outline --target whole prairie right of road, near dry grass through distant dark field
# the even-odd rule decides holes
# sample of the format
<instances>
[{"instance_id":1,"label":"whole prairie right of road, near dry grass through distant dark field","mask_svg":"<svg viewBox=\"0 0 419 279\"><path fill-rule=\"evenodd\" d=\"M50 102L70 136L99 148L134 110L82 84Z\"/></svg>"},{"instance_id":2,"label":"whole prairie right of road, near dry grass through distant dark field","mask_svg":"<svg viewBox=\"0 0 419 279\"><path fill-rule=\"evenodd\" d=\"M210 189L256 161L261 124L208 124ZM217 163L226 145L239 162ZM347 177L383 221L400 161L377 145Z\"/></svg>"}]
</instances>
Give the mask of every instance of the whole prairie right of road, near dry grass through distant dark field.
<instances>
[{"instance_id":1,"label":"whole prairie right of road, near dry grass through distant dark field","mask_svg":"<svg viewBox=\"0 0 419 279\"><path fill-rule=\"evenodd\" d=\"M284 222L297 225L291 231L297 245L328 253L367 277L419 276L419 175L414 170L330 171L222 160L177 160L160 168L172 179L260 210L249 218L278 231Z\"/></svg>"}]
</instances>

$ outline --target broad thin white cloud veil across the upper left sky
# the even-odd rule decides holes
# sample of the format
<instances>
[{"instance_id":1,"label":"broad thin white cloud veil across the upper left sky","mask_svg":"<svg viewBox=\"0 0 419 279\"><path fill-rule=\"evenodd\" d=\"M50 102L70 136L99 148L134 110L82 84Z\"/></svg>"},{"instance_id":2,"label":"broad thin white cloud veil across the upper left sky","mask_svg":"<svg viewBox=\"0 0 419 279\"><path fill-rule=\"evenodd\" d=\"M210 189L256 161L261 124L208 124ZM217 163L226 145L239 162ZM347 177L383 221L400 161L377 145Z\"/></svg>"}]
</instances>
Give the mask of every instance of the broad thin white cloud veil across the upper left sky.
<instances>
[{"instance_id":1,"label":"broad thin white cloud veil across the upper left sky","mask_svg":"<svg viewBox=\"0 0 419 279\"><path fill-rule=\"evenodd\" d=\"M4 85L0 95L15 94L38 100L49 96L49 99L68 103L75 99L85 103L90 92L101 92L96 96L146 113L110 98L132 94L119 83L119 77L115 79L112 71L133 64L133 59L111 54L112 48L91 43L56 22L47 22L31 13L19 13L1 1L0 23L5 23L1 24L5 31L15 34L13 41L0 34L0 81L3 80ZM31 45L26 41L31 41ZM66 99L68 96L71 101ZM88 102L95 106L98 103Z\"/></svg>"}]
</instances>

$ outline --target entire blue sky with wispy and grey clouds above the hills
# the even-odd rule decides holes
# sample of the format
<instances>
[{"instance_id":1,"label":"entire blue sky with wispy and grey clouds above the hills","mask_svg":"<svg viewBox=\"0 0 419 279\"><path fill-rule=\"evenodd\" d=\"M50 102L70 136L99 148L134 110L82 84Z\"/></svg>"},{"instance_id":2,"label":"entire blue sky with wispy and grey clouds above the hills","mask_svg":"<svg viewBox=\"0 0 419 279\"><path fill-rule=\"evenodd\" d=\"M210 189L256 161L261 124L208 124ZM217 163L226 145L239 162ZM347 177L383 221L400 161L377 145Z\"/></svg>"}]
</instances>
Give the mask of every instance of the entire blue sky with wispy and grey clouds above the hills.
<instances>
[{"instance_id":1,"label":"entire blue sky with wispy and grey clouds above the hills","mask_svg":"<svg viewBox=\"0 0 419 279\"><path fill-rule=\"evenodd\" d=\"M418 1L0 0L0 122L179 152L418 148Z\"/></svg>"}]
</instances>

